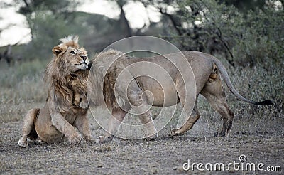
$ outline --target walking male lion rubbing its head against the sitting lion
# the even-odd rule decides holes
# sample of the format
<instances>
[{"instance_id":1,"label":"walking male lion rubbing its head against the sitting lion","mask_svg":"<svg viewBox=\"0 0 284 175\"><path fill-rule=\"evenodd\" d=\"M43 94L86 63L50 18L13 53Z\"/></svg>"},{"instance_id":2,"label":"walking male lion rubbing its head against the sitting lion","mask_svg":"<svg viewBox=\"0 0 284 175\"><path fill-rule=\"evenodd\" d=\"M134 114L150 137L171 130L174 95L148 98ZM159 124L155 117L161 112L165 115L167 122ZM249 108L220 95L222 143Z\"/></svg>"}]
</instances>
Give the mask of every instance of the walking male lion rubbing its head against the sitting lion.
<instances>
[{"instance_id":1,"label":"walking male lion rubbing its head against the sitting lion","mask_svg":"<svg viewBox=\"0 0 284 175\"><path fill-rule=\"evenodd\" d=\"M136 68L129 68L137 63ZM145 63L158 65L166 73L151 68L149 64L145 65ZM188 64L190 64L192 72L188 70ZM118 80L123 71L128 74ZM182 72L186 71L188 73L182 75ZM149 75L149 73L159 82L149 76L141 76L143 74ZM181 102L185 112L190 113L191 110L192 112L182 127L173 129L171 134L173 136L184 134L200 118L200 112L197 110L199 95L203 95L214 110L222 116L223 127L218 136L228 136L234 120L234 112L227 105L221 77L231 93L240 100L254 105L272 105L271 100L254 102L240 95L231 84L222 63L207 53L182 51L151 58L129 58L124 53L115 50L99 53L89 73L88 98L92 100L94 107L105 103L112 114L112 117L109 118L107 133L100 139L102 142L111 140L125 115L133 107L141 105L163 107L175 105L178 102ZM126 82L129 78L131 80ZM165 86L162 88L159 83L163 83ZM154 137L156 130L151 111L141 113L139 118L148 127L148 136Z\"/></svg>"}]
</instances>

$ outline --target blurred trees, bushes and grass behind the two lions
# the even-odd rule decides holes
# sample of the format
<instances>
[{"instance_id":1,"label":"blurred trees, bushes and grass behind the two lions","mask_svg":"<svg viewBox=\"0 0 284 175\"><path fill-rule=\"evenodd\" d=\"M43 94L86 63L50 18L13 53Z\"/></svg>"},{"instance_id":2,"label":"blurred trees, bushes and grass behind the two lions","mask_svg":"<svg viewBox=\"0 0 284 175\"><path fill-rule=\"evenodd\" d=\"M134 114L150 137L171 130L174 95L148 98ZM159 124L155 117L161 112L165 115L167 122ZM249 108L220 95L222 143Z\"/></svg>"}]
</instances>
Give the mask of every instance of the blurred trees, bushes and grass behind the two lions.
<instances>
[{"instance_id":1,"label":"blurred trees, bushes and grass behind the two lions","mask_svg":"<svg viewBox=\"0 0 284 175\"><path fill-rule=\"evenodd\" d=\"M21 4L18 13L26 16L31 41L0 48L2 117L13 115L11 111L24 106L23 103L44 102L46 90L42 88L41 75L59 38L78 34L80 45L92 58L94 53L121 38L149 35L164 38L182 51L217 56L241 94L253 100L268 98L275 102L272 108L263 110L229 102L236 118L259 115L263 121L276 117L283 123L283 0L109 1L120 10L118 18L77 11L82 4L79 0L15 0L6 4ZM125 6L133 2L154 9L160 14L160 21L149 20L141 28L131 28ZM229 96L229 101L233 99ZM200 106L208 110L206 105ZM24 111L23 108L20 113Z\"/></svg>"}]
</instances>

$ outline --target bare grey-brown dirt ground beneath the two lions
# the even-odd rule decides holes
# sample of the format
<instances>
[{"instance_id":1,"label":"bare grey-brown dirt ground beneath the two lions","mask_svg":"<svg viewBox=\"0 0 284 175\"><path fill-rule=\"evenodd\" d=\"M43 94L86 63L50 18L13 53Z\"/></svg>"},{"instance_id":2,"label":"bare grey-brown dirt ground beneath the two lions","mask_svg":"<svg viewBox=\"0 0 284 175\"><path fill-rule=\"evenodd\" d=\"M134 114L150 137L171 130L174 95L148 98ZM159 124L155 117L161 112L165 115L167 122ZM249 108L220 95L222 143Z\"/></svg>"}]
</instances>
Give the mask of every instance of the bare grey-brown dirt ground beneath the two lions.
<instances>
[{"instance_id":1,"label":"bare grey-brown dirt ground beneath the two lions","mask_svg":"<svg viewBox=\"0 0 284 175\"><path fill-rule=\"evenodd\" d=\"M100 134L95 124L91 129L93 135ZM283 169L283 134L236 130L227 138L214 137L211 133L197 137L194 134L171 137L162 133L155 140L114 139L101 146L82 142L79 145L31 144L19 148L16 144L21 122L2 123L0 174L268 174L258 170L236 171L232 166L227 171L199 171L197 166L193 171L182 168L190 160L191 165L209 163L213 169L215 163L223 163L226 169L229 163L241 163L241 155L246 156L244 163L263 163L263 169L267 166ZM273 172L281 173L283 170Z\"/></svg>"}]
</instances>

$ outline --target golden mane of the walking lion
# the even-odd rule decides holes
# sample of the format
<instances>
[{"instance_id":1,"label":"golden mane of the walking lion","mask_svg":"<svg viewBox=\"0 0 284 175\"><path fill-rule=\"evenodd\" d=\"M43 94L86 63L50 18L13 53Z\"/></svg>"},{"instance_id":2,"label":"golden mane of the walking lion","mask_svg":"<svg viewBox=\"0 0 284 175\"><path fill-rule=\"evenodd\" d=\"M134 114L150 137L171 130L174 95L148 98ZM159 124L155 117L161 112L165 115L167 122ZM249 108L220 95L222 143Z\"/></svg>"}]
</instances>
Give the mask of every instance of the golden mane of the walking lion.
<instances>
[{"instance_id":1,"label":"golden mane of the walking lion","mask_svg":"<svg viewBox=\"0 0 284 175\"><path fill-rule=\"evenodd\" d=\"M89 73L87 96L92 100L95 106L105 104L109 109L116 109L120 105L124 105L124 99L118 94L114 94L114 84L116 78L125 68L127 60L123 60L126 57L124 53L109 50L99 53L92 60L92 68ZM120 61L116 61L119 59ZM121 61L122 60L122 61ZM119 100L118 102L116 100Z\"/></svg>"}]
</instances>

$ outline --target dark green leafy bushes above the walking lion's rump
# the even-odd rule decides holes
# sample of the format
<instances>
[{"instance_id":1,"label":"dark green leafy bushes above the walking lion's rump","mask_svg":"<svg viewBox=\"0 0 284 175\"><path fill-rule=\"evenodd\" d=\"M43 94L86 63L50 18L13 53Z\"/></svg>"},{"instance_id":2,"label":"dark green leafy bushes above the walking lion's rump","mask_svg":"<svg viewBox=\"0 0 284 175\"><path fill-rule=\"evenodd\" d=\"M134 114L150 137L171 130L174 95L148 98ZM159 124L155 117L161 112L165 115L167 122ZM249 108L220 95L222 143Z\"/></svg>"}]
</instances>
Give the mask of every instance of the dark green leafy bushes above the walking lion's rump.
<instances>
[{"instance_id":1,"label":"dark green leafy bushes above the walking lion's rump","mask_svg":"<svg viewBox=\"0 0 284 175\"><path fill-rule=\"evenodd\" d=\"M214 0L179 1L175 6L182 33L170 38L185 49L223 55L231 65L283 64L283 6L266 3L245 13Z\"/></svg>"}]
</instances>

